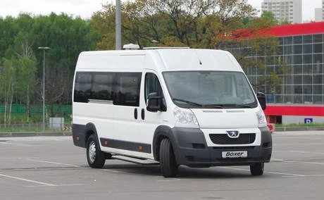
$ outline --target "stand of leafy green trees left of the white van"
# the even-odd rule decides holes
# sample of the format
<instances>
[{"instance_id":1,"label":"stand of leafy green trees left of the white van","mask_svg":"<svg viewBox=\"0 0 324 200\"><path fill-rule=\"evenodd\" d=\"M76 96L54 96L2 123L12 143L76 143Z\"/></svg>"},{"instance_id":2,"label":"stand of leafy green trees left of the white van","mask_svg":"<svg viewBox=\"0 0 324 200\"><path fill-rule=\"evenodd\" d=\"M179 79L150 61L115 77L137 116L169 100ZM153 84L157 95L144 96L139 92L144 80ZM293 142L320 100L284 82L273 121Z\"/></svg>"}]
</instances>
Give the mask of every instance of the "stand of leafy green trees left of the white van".
<instances>
[{"instance_id":1,"label":"stand of leafy green trees left of the white van","mask_svg":"<svg viewBox=\"0 0 324 200\"><path fill-rule=\"evenodd\" d=\"M10 65L15 80L10 87L12 101L27 107L42 102L41 81L38 80L43 77L43 52L37 47L49 46L51 49L46 51L46 104L70 104L77 56L81 51L95 49L99 39L101 37L92 30L89 20L64 13L38 16L23 13L17 18L0 18L0 76L6 83L6 87L1 84L1 88L9 88ZM9 102L5 96L8 95L0 94L0 104ZM51 115L54 115L52 108Z\"/></svg>"}]
</instances>

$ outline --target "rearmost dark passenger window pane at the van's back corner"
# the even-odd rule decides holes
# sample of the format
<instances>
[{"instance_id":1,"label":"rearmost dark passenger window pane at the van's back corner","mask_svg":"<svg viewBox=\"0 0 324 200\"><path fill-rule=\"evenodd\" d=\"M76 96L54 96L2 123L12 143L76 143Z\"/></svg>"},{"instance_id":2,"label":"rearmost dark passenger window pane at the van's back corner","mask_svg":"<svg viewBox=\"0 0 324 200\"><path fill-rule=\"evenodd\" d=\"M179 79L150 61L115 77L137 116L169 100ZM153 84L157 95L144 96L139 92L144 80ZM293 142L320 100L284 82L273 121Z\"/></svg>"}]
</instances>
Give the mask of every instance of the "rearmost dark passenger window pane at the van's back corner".
<instances>
[{"instance_id":1,"label":"rearmost dark passenger window pane at the van's back corner","mask_svg":"<svg viewBox=\"0 0 324 200\"><path fill-rule=\"evenodd\" d=\"M74 101L87 103L91 97L92 74L77 73L75 77Z\"/></svg>"}]
</instances>

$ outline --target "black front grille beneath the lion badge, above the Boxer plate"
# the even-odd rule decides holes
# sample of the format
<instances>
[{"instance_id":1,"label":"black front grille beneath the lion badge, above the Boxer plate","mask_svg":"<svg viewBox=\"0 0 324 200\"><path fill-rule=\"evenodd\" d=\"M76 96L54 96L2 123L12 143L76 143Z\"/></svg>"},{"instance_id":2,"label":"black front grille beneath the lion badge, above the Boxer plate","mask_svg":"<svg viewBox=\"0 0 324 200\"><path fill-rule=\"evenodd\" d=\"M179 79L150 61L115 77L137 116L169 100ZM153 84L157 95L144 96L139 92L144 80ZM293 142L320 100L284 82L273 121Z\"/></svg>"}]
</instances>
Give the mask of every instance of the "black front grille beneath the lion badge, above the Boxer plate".
<instances>
[{"instance_id":1,"label":"black front grille beneath the lion badge, above the Boxer plate","mask_svg":"<svg viewBox=\"0 0 324 200\"><path fill-rule=\"evenodd\" d=\"M251 144L256 139L256 134L240 134L237 138L230 138L227 134L209 134L209 137L213 144Z\"/></svg>"}]
</instances>

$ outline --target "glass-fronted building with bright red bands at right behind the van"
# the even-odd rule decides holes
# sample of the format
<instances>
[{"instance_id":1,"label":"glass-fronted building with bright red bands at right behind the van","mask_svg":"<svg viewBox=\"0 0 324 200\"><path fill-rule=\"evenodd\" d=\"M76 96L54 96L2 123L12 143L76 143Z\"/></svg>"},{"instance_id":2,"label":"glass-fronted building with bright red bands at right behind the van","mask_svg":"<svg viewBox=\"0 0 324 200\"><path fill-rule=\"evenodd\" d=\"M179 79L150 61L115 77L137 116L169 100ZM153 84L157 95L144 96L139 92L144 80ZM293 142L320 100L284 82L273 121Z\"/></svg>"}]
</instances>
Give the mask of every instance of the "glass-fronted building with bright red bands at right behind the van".
<instances>
[{"instance_id":1,"label":"glass-fronted building with bright red bands at right behind the van","mask_svg":"<svg viewBox=\"0 0 324 200\"><path fill-rule=\"evenodd\" d=\"M278 25L265 30L264 36L279 40L275 54L248 55L254 61L263 61L265 68L245 68L252 85L257 85L271 73L280 77L280 84L273 89L261 85L269 104L265 113L272 123L324 123L324 22ZM263 35L245 35L244 39ZM247 46L224 46L232 52L242 52ZM285 70L276 61L285 63ZM296 116L299 116L296 118Z\"/></svg>"}]
</instances>

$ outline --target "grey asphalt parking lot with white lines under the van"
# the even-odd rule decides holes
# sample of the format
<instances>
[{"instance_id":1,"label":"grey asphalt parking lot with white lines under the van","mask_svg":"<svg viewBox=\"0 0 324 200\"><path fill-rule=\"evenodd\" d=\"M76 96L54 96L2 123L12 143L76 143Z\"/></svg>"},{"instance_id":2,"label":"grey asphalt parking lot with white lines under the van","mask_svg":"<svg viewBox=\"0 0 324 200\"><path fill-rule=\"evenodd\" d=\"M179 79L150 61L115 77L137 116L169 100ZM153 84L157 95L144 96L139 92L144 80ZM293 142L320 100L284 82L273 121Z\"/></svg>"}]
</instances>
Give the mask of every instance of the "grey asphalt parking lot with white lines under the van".
<instances>
[{"instance_id":1,"label":"grey asphalt parking lot with white lines under the van","mask_svg":"<svg viewBox=\"0 0 324 200\"><path fill-rule=\"evenodd\" d=\"M324 133L275 132L261 177L248 166L180 167L107 160L87 165L71 137L0 137L0 199L324 199Z\"/></svg>"}]
</instances>

